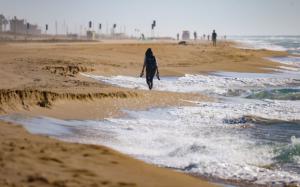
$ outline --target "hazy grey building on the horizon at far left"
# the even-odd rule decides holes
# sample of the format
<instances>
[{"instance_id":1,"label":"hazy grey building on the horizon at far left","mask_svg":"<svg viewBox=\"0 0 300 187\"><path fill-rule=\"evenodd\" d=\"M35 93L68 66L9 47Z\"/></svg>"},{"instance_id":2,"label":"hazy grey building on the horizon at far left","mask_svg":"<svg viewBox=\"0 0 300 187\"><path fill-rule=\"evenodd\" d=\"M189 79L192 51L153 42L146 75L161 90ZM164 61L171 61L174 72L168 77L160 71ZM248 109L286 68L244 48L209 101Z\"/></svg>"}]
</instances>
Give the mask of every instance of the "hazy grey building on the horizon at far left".
<instances>
[{"instance_id":1,"label":"hazy grey building on the horizon at far left","mask_svg":"<svg viewBox=\"0 0 300 187\"><path fill-rule=\"evenodd\" d=\"M14 17L13 19L9 20L9 25L10 32L16 34L40 35L42 33L42 31L38 28L37 25L25 23L24 19L17 19L17 17Z\"/></svg>"}]
</instances>

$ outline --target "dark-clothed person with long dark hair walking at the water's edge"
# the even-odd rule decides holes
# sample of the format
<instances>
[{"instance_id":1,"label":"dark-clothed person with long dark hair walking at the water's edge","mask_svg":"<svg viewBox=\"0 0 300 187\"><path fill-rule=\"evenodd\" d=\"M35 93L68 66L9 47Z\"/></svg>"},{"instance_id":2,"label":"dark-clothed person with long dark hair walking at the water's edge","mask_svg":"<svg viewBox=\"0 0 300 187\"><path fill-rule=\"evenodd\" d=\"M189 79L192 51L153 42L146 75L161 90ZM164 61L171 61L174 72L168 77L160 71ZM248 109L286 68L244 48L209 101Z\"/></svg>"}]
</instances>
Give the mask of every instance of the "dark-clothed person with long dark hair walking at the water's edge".
<instances>
[{"instance_id":1,"label":"dark-clothed person with long dark hair walking at the water's edge","mask_svg":"<svg viewBox=\"0 0 300 187\"><path fill-rule=\"evenodd\" d=\"M151 48L148 48L145 53L144 65L143 65L143 69L142 69L140 77L143 77L145 67L146 67L146 82L148 84L149 90L151 90L153 87L153 78L154 78L155 74L156 74L157 79L160 80L158 66L157 66L156 59L152 53Z\"/></svg>"}]
</instances>

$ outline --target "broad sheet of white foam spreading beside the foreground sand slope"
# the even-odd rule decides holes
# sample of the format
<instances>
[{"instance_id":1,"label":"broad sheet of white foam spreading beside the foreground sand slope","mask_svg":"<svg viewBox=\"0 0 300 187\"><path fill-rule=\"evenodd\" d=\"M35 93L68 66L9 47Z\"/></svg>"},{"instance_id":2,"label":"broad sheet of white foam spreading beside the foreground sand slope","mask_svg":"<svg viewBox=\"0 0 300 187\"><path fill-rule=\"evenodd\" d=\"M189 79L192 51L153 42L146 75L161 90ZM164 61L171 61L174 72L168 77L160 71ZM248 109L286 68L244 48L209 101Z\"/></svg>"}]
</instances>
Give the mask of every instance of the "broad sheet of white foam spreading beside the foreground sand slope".
<instances>
[{"instance_id":1,"label":"broad sheet of white foam spreading beside the foreground sand slope","mask_svg":"<svg viewBox=\"0 0 300 187\"><path fill-rule=\"evenodd\" d=\"M264 143L247 129L243 130L244 123L225 122L245 115L300 120L300 102L240 99L127 113L125 118L104 121L23 120L9 116L2 119L23 123L35 132L39 132L36 129L39 124L47 124L52 135L56 126L62 126L67 129L65 132L74 133L73 136L58 134L64 140L104 144L149 163L186 172L257 184L292 181L300 184L299 174L264 167L274 163L277 156L274 149L281 145ZM290 143L297 142L297 138L292 138ZM295 155L296 161L298 156Z\"/></svg>"}]
</instances>

